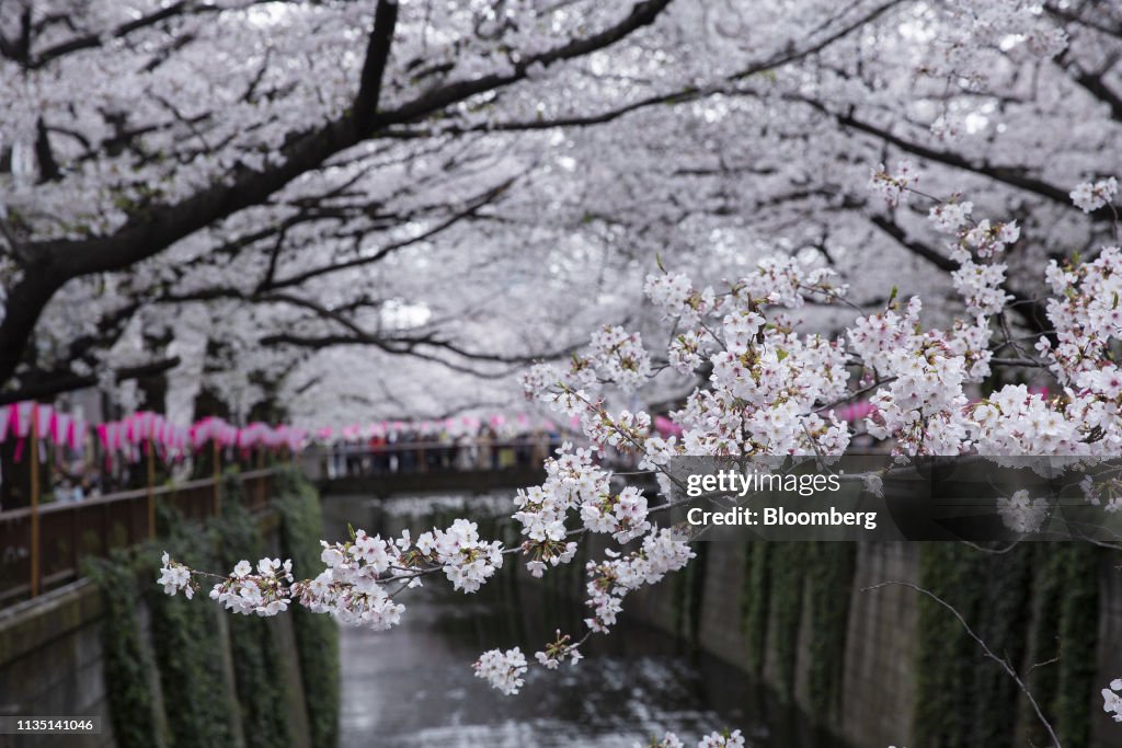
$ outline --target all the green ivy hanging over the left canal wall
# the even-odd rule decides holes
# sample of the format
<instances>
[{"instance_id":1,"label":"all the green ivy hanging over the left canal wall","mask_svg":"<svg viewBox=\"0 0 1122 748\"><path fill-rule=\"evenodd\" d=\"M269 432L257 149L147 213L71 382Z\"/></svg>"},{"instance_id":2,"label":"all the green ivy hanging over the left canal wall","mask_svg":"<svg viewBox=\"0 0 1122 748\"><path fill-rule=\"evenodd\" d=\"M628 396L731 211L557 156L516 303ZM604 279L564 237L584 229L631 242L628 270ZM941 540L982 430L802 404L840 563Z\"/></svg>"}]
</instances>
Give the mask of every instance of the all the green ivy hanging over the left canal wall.
<instances>
[{"instance_id":1,"label":"all the green ivy hanging over the left canal wall","mask_svg":"<svg viewBox=\"0 0 1122 748\"><path fill-rule=\"evenodd\" d=\"M319 567L319 497L302 477L278 480L280 555ZM210 601L168 597L155 584L166 550L196 569L229 569L266 555L257 518L232 474L223 486L223 516L208 527L157 507L156 543L107 560L85 574L102 590L107 699L120 748L286 748L291 703L276 637L261 618L233 616ZM273 554L268 554L273 555ZM200 595L206 594L204 585ZM137 601L149 611L150 647ZM313 748L335 748L340 705L339 632L330 617L291 609ZM224 624L224 625L223 625ZM226 636L223 636L226 634ZM154 692L158 677L163 703ZM163 707L163 709L162 709Z\"/></svg>"}]
</instances>

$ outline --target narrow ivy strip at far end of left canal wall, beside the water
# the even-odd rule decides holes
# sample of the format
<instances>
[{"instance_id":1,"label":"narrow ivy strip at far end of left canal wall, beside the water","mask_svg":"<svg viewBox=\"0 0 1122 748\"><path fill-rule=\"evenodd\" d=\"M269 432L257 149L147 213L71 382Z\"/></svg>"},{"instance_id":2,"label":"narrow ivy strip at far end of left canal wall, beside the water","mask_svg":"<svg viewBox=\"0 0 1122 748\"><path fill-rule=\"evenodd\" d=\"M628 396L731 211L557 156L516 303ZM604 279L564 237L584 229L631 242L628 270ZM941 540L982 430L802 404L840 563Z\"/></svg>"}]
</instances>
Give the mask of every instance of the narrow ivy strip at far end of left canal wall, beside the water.
<instances>
[{"instance_id":1,"label":"narrow ivy strip at far end of left canal wall, beside the water","mask_svg":"<svg viewBox=\"0 0 1122 748\"><path fill-rule=\"evenodd\" d=\"M293 567L319 569L323 516L319 496L293 470L276 477L275 506L280 512L280 555ZM313 748L335 748L339 742L339 629L329 616L296 607L289 609L304 685L307 726Z\"/></svg>"}]
</instances>

